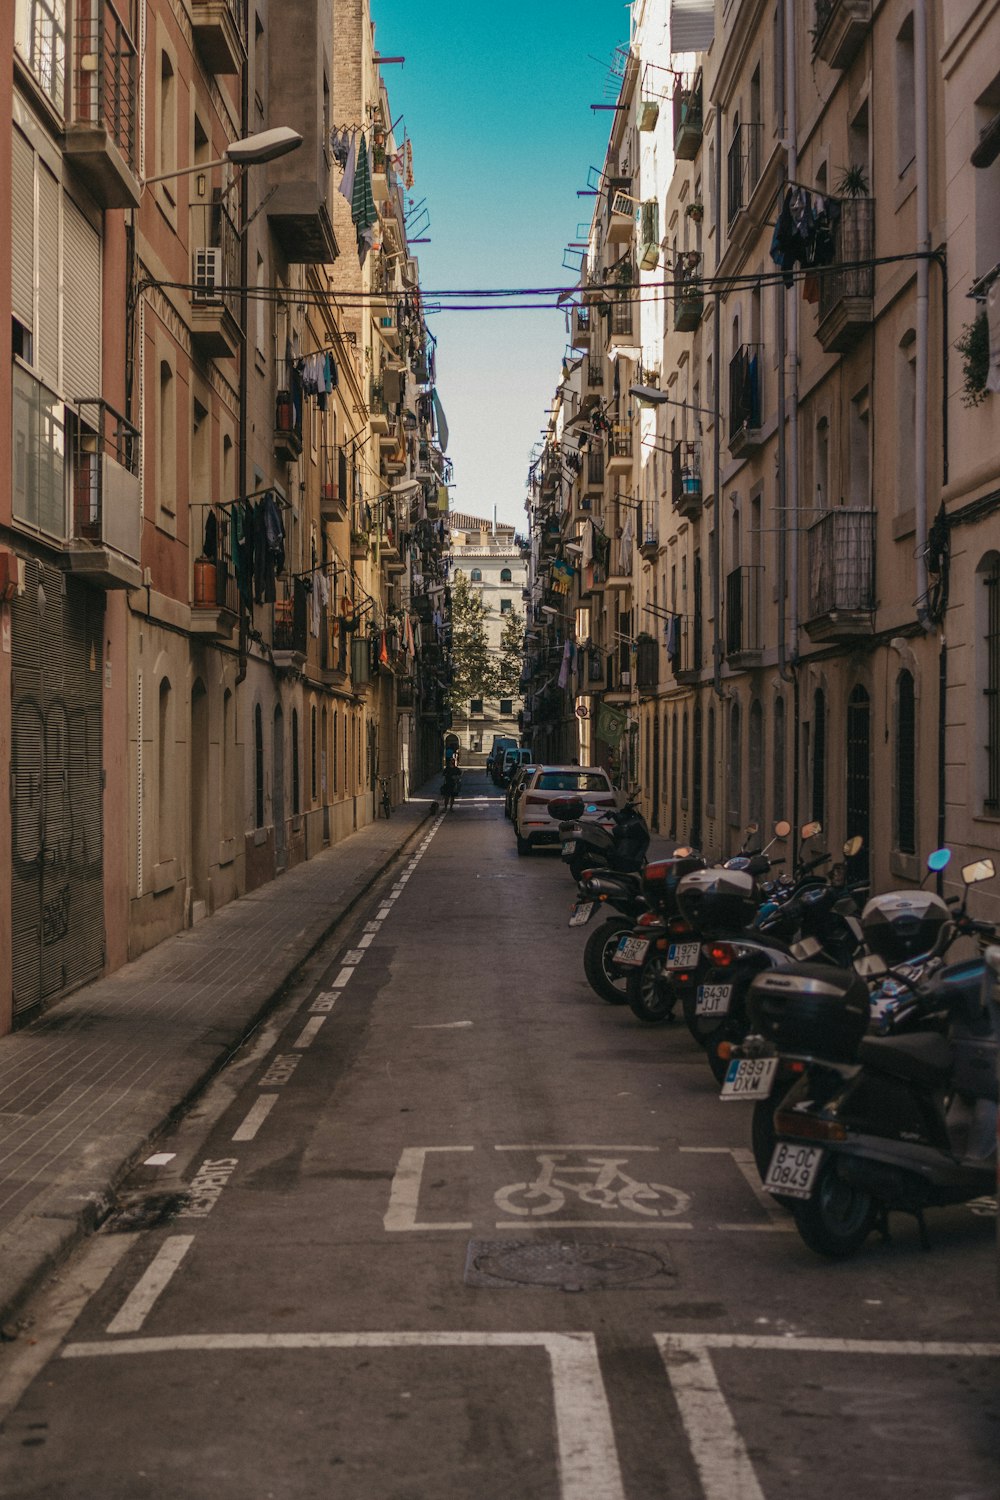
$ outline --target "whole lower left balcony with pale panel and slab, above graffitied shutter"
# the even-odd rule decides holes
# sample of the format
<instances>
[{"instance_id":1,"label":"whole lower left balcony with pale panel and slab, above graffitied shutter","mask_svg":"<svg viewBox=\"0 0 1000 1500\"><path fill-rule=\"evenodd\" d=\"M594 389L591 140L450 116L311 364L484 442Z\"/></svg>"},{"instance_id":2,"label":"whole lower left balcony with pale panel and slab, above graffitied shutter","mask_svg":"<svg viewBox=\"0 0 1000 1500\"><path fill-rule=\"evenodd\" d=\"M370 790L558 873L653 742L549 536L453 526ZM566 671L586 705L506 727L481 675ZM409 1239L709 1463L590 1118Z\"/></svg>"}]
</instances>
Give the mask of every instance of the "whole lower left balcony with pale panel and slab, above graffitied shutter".
<instances>
[{"instance_id":1,"label":"whole lower left balcony with pale panel and slab, above graffitied shutter","mask_svg":"<svg viewBox=\"0 0 1000 1500\"><path fill-rule=\"evenodd\" d=\"M79 400L72 447L72 537L61 566L96 588L142 582L139 432L105 400Z\"/></svg>"}]
</instances>

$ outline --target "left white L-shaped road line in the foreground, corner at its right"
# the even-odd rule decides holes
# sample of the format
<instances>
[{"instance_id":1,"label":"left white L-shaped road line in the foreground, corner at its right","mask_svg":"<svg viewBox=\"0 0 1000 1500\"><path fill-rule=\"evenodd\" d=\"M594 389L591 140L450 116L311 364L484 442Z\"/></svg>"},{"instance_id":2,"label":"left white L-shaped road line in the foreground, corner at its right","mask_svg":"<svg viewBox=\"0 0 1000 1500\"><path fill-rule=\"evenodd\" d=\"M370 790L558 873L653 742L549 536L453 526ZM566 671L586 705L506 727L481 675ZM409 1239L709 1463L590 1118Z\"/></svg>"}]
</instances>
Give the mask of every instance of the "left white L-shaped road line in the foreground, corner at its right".
<instances>
[{"instance_id":1,"label":"left white L-shaped road line in the foreground, corner at its right","mask_svg":"<svg viewBox=\"0 0 1000 1500\"><path fill-rule=\"evenodd\" d=\"M552 1368L562 1500L594 1500L595 1496L625 1500L592 1334L180 1334L114 1344L67 1344L61 1358L300 1348L543 1348Z\"/></svg>"}]
</instances>

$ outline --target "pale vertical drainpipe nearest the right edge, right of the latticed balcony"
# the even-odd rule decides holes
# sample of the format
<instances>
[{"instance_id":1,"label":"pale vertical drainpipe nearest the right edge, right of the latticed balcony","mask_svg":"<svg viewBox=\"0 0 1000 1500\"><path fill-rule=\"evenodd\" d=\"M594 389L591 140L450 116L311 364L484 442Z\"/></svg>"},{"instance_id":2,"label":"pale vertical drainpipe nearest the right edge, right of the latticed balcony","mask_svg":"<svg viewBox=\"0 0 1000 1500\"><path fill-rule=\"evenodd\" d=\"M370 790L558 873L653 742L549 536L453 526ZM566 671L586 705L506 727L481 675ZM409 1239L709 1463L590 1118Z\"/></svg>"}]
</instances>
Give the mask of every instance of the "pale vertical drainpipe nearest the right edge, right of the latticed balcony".
<instances>
[{"instance_id":1,"label":"pale vertical drainpipe nearest the right edge, right of the latticed balcony","mask_svg":"<svg viewBox=\"0 0 1000 1500\"><path fill-rule=\"evenodd\" d=\"M916 130L916 618L924 630L934 622L927 610L927 408L928 408L928 324L931 278L930 160L927 134L927 0L913 4L913 120Z\"/></svg>"}]
</instances>

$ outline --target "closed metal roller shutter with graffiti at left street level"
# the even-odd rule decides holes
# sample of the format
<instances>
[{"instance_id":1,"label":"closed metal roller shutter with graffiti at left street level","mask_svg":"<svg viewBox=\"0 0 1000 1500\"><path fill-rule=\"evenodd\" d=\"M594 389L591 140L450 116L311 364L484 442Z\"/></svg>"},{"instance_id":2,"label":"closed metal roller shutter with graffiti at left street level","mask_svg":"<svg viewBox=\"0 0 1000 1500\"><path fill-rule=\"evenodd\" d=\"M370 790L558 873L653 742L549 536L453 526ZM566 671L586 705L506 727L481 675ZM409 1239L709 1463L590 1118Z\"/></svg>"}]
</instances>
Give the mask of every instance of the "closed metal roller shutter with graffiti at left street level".
<instances>
[{"instance_id":1,"label":"closed metal roller shutter with graffiti at left street level","mask_svg":"<svg viewBox=\"0 0 1000 1500\"><path fill-rule=\"evenodd\" d=\"M12 604L13 1016L103 964L103 596L25 562Z\"/></svg>"}]
</instances>

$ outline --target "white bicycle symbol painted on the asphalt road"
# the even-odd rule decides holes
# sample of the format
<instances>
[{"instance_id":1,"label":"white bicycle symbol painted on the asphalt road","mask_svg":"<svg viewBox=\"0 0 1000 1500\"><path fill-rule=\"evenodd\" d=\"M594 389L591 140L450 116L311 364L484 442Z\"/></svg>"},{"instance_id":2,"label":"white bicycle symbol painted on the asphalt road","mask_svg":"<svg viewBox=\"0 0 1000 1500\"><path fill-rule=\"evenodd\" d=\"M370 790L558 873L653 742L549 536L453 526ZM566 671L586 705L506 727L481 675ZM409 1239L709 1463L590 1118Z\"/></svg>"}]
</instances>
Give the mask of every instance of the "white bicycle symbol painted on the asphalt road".
<instances>
[{"instance_id":1,"label":"white bicycle symbol painted on the asphalt road","mask_svg":"<svg viewBox=\"0 0 1000 1500\"><path fill-rule=\"evenodd\" d=\"M663 1182L648 1182L627 1170L633 1152L655 1146L496 1146L496 1150L531 1152L534 1176L508 1182L493 1194L501 1214L498 1228L511 1221L535 1221L558 1228L691 1228L679 1215L691 1197ZM598 1209L600 1218L556 1218L565 1209L582 1215Z\"/></svg>"}]
</instances>

